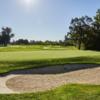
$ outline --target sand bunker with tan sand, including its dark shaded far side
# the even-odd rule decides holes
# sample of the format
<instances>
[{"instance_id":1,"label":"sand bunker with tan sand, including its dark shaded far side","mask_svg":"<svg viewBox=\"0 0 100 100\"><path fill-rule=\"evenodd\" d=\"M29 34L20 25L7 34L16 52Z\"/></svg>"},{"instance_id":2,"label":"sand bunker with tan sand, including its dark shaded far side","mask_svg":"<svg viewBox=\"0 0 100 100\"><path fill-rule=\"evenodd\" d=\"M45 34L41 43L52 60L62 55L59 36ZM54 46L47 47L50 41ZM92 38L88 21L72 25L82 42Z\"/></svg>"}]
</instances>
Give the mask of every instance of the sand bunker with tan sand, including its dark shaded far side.
<instances>
[{"instance_id":1,"label":"sand bunker with tan sand, including its dark shaded far side","mask_svg":"<svg viewBox=\"0 0 100 100\"><path fill-rule=\"evenodd\" d=\"M39 92L70 83L100 85L100 65L67 64L12 71L0 77L0 93Z\"/></svg>"}]
</instances>

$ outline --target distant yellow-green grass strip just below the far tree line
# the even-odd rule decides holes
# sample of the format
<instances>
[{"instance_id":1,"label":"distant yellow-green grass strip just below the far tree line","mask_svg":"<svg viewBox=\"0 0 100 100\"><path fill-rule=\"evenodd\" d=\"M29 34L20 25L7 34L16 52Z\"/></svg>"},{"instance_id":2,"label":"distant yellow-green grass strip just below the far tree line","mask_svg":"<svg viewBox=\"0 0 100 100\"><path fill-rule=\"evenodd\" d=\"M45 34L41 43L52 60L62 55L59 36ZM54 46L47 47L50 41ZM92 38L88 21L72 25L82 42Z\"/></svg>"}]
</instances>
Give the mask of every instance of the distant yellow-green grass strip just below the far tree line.
<instances>
[{"instance_id":1,"label":"distant yellow-green grass strip just below the far tree line","mask_svg":"<svg viewBox=\"0 0 100 100\"><path fill-rule=\"evenodd\" d=\"M9 45L0 47L0 52L8 51L39 51L39 50L76 50L73 46L52 46L52 45Z\"/></svg>"}]
</instances>

